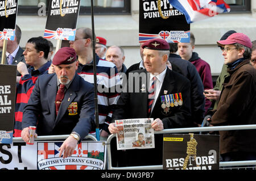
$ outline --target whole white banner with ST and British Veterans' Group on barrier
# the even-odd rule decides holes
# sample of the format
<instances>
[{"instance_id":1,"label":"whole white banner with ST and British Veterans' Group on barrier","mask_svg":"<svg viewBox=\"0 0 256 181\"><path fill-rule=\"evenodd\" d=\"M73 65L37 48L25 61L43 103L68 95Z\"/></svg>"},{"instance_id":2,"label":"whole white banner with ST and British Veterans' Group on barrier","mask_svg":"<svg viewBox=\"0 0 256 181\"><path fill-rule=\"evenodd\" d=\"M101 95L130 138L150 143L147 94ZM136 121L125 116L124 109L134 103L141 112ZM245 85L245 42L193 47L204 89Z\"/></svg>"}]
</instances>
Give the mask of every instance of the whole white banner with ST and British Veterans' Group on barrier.
<instances>
[{"instance_id":1,"label":"whole white banner with ST and British Veterans' Group on barrier","mask_svg":"<svg viewBox=\"0 0 256 181\"><path fill-rule=\"evenodd\" d=\"M71 157L59 157L63 141L35 141L0 144L0 170L103 170L106 163L104 141L82 141Z\"/></svg>"}]
</instances>

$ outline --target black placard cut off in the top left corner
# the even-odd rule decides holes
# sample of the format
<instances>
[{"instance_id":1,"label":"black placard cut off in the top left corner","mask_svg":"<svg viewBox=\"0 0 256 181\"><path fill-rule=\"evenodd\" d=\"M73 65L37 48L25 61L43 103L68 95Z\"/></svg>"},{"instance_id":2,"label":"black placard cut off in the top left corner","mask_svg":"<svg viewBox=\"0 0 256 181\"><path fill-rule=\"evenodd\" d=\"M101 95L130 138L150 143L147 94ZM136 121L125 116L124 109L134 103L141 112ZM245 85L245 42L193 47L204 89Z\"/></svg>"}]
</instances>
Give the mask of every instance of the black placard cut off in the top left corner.
<instances>
[{"instance_id":1,"label":"black placard cut off in the top left corner","mask_svg":"<svg viewBox=\"0 0 256 181\"><path fill-rule=\"evenodd\" d=\"M0 40L14 40L18 0L0 0Z\"/></svg>"}]
</instances>

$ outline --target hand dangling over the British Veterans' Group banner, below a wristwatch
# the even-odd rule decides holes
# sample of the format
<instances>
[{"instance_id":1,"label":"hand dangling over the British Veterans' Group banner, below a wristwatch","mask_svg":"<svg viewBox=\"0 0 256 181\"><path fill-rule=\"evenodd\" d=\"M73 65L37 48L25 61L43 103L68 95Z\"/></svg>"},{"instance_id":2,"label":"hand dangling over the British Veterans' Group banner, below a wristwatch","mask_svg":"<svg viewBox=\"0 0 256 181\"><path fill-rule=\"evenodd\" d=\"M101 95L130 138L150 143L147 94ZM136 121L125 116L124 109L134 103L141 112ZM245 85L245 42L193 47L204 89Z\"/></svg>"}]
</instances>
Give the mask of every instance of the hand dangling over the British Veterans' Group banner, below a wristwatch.
<instances>
[{"instance_id":1,"label":"hand dangling over the British Veterans' Group banner, below a wristwatch","mask_svg":"<svg viewBox=\"0 0 256 181\"><path fill-rule=\"evenodd\" d=\"M77 140L73 136L69 136L60 146L60 157L63 153L63 158L71 157L77 146ZM64 151L64 152L63 152Z\"/></svg>"}]
</instances>

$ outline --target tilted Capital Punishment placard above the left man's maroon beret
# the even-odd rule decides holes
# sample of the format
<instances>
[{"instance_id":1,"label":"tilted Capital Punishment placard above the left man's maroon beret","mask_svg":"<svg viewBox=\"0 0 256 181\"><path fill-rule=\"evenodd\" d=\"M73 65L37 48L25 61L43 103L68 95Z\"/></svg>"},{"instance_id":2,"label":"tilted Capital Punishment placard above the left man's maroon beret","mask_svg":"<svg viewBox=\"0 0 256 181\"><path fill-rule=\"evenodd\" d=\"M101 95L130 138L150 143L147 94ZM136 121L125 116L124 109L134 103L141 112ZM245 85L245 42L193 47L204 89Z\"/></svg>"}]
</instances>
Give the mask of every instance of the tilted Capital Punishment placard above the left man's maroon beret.
<instances>
[{"instance_id":1,"label":"tilted Capital Punishment placard above the left man's maroon beret","mask_svg":"<svg viewBox=\"0 0 256 181\"><path fill-rule=\"evenodd\" d=\"M80 0L51 0L44 38L75 40Z\"/></svg>"}]
</instances>

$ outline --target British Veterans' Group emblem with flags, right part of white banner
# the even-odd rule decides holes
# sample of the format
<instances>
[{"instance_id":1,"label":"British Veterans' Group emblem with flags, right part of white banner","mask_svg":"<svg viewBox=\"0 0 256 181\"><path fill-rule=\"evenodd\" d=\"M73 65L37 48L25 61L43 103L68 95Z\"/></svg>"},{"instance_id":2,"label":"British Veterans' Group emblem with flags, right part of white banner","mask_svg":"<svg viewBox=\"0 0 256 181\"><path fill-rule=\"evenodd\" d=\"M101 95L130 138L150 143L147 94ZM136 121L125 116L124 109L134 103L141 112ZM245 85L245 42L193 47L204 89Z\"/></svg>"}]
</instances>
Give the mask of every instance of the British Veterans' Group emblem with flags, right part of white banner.
<instances>
[{"instance_id":1,"label":"British Veterans' Group emblem with flags, right part of white banner","mask_svg":"<svg viewBox=\"0 0 256 181\"><path fill-rule=\"evenodd\" d=\"M106 146L102 143L81 142L71 157L63 159L58 151L63 142L38 142L38 170L103 170Z\"/></svg>"}]
</instances>

